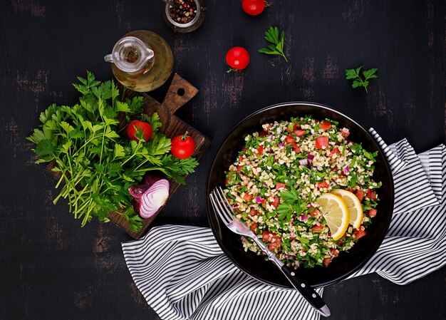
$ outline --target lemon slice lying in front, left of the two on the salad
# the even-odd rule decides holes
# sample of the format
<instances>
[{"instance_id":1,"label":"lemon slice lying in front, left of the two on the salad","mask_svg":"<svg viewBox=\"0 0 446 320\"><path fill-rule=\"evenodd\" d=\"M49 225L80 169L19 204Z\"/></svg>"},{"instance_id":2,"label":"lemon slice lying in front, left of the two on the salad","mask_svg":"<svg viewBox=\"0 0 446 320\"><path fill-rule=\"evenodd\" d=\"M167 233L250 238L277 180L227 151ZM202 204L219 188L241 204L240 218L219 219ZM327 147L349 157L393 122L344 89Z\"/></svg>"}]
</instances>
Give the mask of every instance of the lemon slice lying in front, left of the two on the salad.
<instances>
[{"instance_id":1,"label":"lemon slice lying in front, left of the two on the salad","mask_svg":"<svg viewBox=\"0 0 446 320\"><path fill-rule=\"evenodd\" d=\"M348 207L346 202L337 195L324 193L316 200L323 217L325 218L331 237L334 240L341 239L348 227Z\"/></svg>"}]
</instances>

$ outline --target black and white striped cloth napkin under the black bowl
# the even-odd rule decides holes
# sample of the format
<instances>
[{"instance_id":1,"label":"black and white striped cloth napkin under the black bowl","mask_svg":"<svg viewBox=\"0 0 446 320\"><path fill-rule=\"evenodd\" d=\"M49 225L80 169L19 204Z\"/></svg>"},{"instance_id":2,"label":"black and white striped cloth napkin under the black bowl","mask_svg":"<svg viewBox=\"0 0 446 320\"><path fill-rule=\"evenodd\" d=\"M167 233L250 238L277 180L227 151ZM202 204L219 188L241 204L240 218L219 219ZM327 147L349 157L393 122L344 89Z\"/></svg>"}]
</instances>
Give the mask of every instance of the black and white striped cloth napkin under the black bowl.
<instances>
[{"instance_id":1,"label":"black and white striped cloth napkin under the black bowl","mask_svg":"<svg viewBox=\"0 0 446 320\"><path fill-rule=\"evenodd\" d=\"M388 146L370 133L390 162L395 211L378 252L351 277L376 272L408 284L446 264L446 147L416 155L407 140ZM155 227L123 243L123 252L135 284L163 320L320 318L299 292L263 284L235 267L208 228Z\"/></svg>"}]
</instances>

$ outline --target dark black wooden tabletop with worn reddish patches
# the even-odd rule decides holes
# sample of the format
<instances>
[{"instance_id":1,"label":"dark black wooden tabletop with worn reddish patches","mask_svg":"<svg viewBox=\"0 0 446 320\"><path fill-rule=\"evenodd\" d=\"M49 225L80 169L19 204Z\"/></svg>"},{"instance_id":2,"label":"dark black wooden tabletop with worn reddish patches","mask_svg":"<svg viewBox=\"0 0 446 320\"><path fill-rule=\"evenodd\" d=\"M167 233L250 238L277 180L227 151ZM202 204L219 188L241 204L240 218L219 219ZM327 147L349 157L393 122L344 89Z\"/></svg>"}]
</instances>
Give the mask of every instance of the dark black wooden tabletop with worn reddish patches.
<instances>
[{"instance_id":1,"label":"dark black wooden tabletop with worn reddish patches","mask_svg":"<svg viewBox=\"0 0 446 320\"><path fill-rule=\"evenodd\" d=\"M73 104L85 70L112 77L103 56L128 31L160 33L175 71L200 92L177 115L212 139L197 172L155 224L207 226L204 184L228 130L254 110L289 100L331 105L418 152L445 143L445 1L275 0L257 17L239 0L207 0L195 33L174 34L160 0L0 3L0 319L157 319L133 284L113 224L81 229L54 180L34 164L26 135L49 104ZM286 55L260 55L263 32L285 31ZM244 46L249 67L226 73L225 53ZM368 95L343 71L379 68ZM152 96L162 99L167 86ZM435 226L432 226L435 227ZM400 287L375 274L328 287L331 319L446 319L446 269ZM290 319L292 317L290 316Z\"/></svg>"}]
</instances>

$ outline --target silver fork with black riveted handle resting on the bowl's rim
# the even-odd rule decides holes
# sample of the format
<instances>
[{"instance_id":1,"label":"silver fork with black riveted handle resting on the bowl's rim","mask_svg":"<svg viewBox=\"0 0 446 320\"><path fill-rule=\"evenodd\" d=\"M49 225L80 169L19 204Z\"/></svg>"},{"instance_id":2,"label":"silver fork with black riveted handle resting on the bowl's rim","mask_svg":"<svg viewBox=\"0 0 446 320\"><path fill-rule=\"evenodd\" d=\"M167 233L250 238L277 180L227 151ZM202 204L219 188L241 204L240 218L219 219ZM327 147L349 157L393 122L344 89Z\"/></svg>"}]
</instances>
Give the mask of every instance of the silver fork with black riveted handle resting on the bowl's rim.
<instances>
[{"instance_id":1,"label":"silver fork with black riveted handle resting on the bowl's rim","mask_svg":"<svg viewBox=\"0 0 446 320\"><path fill-rule=\"evenodd\" d=\"M276 264L281 272L284 273L286 279L293 285L296 290L298 290L302 296L308 301L314 309L316 309L323 316L330 316L330 309L323 301L321 296L308 284L306 284L300 277L297 276L296 272L286 267L286 265L276 257L274 252L271 252L266 245L261 242L261 240L254 234L254 232L249 229L247 224L238 220L234 211L232 210L232 206L229 205L229 202L224 195L224 192L221 187L216 187L209 195L212 207L214 211L217 212L217 215L220 217L220 220L227 226L232 232L236 234L240 234L245 237L250 237L256 242L261 251L263 251L268 257L269 261Z\"/></svg>"}]
</instances>

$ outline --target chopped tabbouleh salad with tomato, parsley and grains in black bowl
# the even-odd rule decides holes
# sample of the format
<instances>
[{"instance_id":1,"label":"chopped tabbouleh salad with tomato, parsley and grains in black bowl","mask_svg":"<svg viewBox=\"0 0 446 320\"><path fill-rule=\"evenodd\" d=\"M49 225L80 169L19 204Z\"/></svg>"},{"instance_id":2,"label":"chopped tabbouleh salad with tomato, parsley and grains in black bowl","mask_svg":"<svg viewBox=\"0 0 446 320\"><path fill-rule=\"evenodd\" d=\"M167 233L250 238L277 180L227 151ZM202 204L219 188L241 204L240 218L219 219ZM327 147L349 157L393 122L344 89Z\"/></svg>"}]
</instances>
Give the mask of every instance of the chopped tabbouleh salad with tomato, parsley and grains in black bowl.
<instances>
[{"instance_id":1,"label":"chopped tabbouleh salad with tomato, parsley and grains in black bowl","mask_svg":"<svg viewBox=\"0 0 446 320\"><path fill-rule=\"evenodd\" d=\"M348 128L334 120L310 116L266 123L264 131L245 138L226 174L224 190L239 220L289 267L325 265L351 249L377 214L373 181L377 153L348 140ZM343 189L361 201L361 227L349 225L338 240L331 237L316 200ZM245 251L261 255L259 247L242 238Z\"/></svg>"}]
</instances>

